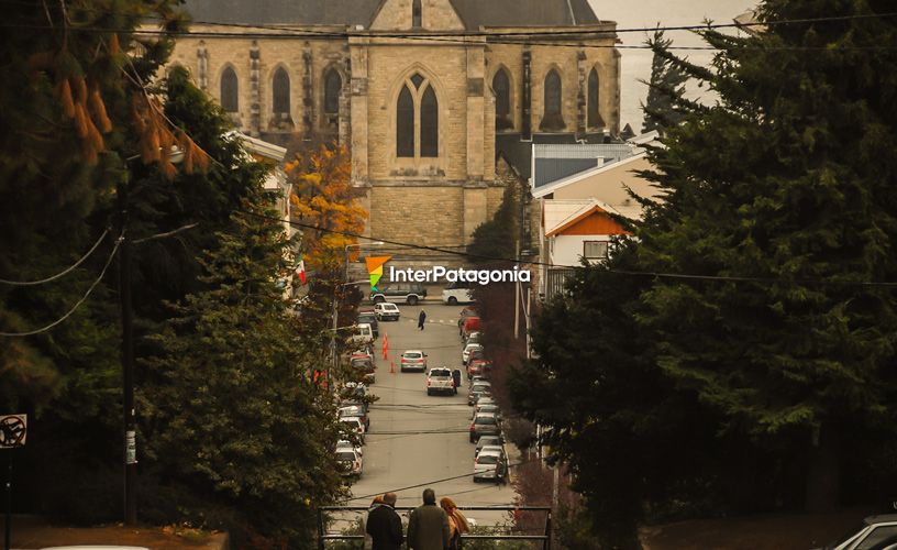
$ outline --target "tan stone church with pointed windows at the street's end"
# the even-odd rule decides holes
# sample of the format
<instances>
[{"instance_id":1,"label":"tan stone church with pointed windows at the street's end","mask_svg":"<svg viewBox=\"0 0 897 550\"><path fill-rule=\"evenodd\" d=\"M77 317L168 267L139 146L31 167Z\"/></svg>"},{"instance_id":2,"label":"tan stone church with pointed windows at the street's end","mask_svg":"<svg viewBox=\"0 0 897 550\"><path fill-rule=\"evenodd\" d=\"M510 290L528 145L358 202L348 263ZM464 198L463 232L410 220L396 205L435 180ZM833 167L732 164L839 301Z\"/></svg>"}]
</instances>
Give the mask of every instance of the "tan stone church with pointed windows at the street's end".
<instances>
[{"instance_id":1,"label":"tan stone church with pointed windows at the street's end","mask_svg":"<svg viewBox=\"0 0 897 550\"><path fill-rule=\"evenodd\" d=\"M619 133L616 23L587 0L188 0L173 63L241 131L347 145L367 234L462 248L532 143Z\"/></svg>"}]
</instances>

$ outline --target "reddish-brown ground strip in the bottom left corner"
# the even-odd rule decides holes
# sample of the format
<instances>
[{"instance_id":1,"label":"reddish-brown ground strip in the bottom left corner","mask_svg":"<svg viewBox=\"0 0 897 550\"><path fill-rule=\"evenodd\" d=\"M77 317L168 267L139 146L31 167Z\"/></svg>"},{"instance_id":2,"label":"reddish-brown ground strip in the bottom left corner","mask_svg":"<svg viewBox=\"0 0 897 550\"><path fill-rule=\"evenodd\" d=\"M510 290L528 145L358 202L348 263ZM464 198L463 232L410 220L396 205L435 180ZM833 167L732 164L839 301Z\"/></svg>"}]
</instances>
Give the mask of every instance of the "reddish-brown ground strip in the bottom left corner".
<instances>
[{"instance_id":1,"label":"reddish-brown ground strip in the bottom left corner","mask_svg":"<svg viewBox=\"0 0 897 550\"><path fill-rule=\"evenodd\" d=\"M0 516L0 529L4 529ZM71 544L120 544L152 550L229 550L226 532L179 535L171 527L124 527L121 524L97 527L60 527L38 516L13 516L12 548L40 549Z\"/></svg>"}]
</instances>

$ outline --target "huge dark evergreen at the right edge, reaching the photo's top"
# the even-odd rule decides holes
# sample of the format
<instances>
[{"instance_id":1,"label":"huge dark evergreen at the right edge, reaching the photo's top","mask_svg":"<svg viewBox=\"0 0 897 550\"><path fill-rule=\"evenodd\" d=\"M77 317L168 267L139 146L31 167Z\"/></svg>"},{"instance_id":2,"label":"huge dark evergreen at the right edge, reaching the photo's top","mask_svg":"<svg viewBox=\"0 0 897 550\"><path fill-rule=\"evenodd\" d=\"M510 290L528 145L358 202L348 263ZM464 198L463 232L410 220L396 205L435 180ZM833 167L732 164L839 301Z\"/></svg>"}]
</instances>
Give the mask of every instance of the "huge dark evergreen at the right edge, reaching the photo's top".
<instances>
[{"instance_id":1,"label":"huge dark evergreen at the right edge, reaching the photo's top","mask_svg":"<svg viewBox=\"0 0 897 550\"><path fill-rule=\"evenodd\" d=\"M876 285L897 280L897 52L879 47L897 25L878 10L768 0L761 21L844 19L704 32L710 69L668 56L719 101L677 101L689 117L650 154L666 202L639 231L643 270L721 277L644 293L658 365L727 430L777 449L812 508L838 502L846 449L897 435L897 311Z\"/></svg>"}]
</instances>

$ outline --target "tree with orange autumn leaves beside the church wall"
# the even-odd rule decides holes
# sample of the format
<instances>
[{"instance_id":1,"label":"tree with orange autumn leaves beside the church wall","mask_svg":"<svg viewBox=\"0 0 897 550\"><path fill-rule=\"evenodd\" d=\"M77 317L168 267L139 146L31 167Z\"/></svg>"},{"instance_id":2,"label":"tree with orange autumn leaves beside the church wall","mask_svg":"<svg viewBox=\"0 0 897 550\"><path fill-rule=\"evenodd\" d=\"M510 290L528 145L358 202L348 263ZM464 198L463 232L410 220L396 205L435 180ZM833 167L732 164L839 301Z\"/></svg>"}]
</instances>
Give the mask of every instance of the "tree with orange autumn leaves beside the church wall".
<instances>
[{"instance_id":1,"label":"tree with orange autumn leaves beside the church wall","mask_svg":"<svg viewBox=\"0 0 897 550\"><path fill-rule=\"evenodd\" d=\"M356 242L352 235L364 231L367 219L367 210L353 196L347 150L320 145L298 153L286 169L294 216L302 223L303 257L319 273L339 273L345 245Z\"/></svg>"}]
</instances>

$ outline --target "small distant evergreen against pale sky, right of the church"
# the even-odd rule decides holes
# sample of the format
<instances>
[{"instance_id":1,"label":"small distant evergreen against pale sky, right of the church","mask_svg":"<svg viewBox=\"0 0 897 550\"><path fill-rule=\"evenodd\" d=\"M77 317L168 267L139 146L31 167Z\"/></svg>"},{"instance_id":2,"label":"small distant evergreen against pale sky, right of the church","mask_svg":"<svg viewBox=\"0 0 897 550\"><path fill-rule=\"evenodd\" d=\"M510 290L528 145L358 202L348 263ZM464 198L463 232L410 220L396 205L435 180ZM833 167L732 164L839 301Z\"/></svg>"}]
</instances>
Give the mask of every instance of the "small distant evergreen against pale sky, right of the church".
<instances>
[{"instance_id":1,"label":"small distant evergreen against pale sky, right of the church","mask_svg":"<svg viewBox=\"0 0 897 550\"><path fill-rule=\"evenodd\" d=\"M664 131L665 128L678 124L685 117L677 101L685 94L688 75L668 59L669 38L664 38L661 30L654 31L654 37L647 42L654 51L651 59L651 80L647 85L647 100L642 103L644 122L642 133L652 130Z\"/></svg>"}]
</instances>

